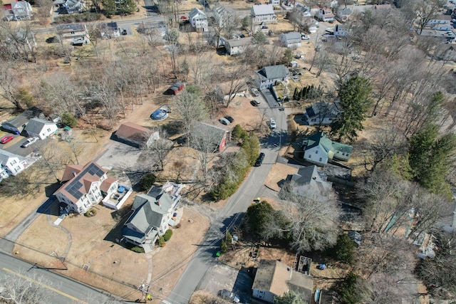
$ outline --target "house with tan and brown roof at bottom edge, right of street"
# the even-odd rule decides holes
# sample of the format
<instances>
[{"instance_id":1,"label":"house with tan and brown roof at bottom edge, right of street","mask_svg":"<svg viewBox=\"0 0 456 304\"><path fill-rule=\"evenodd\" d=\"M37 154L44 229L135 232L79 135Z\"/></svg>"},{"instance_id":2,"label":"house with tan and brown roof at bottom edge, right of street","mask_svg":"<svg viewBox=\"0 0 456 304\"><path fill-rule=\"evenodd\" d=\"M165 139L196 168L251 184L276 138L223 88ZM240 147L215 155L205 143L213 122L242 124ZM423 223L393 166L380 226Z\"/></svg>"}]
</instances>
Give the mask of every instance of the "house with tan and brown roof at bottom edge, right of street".
<instances>
[{"instance_id":1,"label":"house with tan and brown roof at bottom edge, right of street","mask_svg":"<svg viewBox=\"0 0 456 304\"><path fill-rule=\"evenodd\" d=\"M252 296L266 303L274 303L274 297L289 290L301 295L306 303L311 303L314 278L284 263L274 260L261 260L252 285Z\"/></svg>"}]
</instances>

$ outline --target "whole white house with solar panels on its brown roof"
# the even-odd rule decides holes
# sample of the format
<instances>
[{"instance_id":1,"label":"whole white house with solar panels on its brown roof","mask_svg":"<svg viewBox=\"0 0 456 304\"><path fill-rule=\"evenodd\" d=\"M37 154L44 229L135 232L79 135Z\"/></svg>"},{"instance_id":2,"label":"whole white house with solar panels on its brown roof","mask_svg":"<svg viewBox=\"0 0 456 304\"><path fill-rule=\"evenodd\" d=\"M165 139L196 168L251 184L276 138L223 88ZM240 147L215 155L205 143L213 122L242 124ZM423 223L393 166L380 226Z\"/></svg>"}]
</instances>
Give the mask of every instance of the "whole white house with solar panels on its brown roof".
<instances>
[{"instance_id":1,"label":"whole white house with solar panels on its brown roof","mask_svg":"<svg viewBox=\"0 0 456 304\"><path fill-rule=\"evenodd\" d=\"M62 182L65 184L55 193L58 201L68 209L84 214L91 206L99 204L103 197L111 196L119 187L117 179L106 175L108 170L95 162L66 166ZM131 193L131 192L130 192Z\"/></svg>"}]
</instances>

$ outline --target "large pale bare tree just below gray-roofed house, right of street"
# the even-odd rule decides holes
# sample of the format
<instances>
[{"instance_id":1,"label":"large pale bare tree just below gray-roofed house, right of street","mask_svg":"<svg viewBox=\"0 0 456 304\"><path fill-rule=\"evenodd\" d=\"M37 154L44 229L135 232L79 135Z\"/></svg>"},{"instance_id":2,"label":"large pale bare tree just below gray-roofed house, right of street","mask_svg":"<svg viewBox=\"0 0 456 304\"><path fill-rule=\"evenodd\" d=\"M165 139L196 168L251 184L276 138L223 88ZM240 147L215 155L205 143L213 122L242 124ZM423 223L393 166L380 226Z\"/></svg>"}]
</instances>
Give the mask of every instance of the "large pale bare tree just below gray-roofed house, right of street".
<instances>
[{"instance_id":1,"label":"large pale bare tree just below gray-roofed house, right of street","mask_svg":"<svg viewBox=\"0 0 456 304\"><path fill-rule=\"evenodd\" d=\"M291 236L291 248L297 252L321 250L336 243L341 211L331 190L301 196L283 187L279 197L288 202L282 212L287 224L271 229Z\"/></svg>"}]
</instances>

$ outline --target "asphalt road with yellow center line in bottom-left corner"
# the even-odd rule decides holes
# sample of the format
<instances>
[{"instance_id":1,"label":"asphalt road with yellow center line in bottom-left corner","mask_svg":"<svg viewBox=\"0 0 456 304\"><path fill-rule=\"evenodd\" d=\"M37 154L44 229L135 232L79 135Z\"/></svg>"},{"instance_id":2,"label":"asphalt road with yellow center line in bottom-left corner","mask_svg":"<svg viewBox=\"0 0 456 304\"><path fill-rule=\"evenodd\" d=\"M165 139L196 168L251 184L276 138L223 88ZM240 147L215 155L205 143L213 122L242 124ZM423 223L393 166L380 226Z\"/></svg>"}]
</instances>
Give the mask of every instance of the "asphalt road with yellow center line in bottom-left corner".
<instances>
[{"instance_id":1,"label":"asphalt road with yellow center line in bottom-left corner","mask_svg":"<svg viewBox=\"0 0 456 304\"><path fill-rule=\"evenodd\" d=\"M0 287L5 276L39 283L46 295L49 296L46 303L113 303L115 300L107 293L102 293L88 285L60 276L47 269L36 267L14 256L0 253Z\"/></svg>"}]
</instances>

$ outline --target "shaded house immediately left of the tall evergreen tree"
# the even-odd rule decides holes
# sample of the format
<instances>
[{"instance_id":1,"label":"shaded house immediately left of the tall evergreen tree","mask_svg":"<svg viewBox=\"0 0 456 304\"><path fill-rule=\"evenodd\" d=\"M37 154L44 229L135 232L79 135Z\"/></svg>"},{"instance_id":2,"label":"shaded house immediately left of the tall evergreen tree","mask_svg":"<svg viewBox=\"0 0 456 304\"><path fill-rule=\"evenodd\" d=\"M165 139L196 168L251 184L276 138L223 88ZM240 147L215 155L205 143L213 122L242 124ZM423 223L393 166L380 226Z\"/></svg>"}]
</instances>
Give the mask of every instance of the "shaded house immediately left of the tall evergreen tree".
<instances>
[{"instance_id":1,"label":"shaded house immediately left of the tall evergreen tree","mask_svg":"<svg viewBox=\"0 0 456 304\"><path fill-rule=\"evenodd\" d=\"M321 101L307 107L303 119L309 125L331 125L341 112L338 101Z\"/></svg>"}]
</instances>

